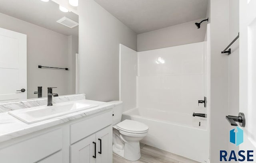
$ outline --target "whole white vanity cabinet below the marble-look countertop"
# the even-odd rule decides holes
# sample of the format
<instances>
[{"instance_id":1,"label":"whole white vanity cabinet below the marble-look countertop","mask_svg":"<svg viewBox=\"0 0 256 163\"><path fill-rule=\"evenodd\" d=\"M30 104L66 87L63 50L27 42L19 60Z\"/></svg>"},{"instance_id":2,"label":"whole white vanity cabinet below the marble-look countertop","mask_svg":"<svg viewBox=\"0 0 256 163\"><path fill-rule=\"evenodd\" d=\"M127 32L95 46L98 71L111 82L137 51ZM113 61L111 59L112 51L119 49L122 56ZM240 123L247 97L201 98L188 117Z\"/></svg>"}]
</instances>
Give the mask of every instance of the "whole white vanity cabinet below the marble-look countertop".
<instances>
[{"instance_id":1,"label":"whole white vanity cabinet below the marble-look countertop","mask_svg":"<svg viewBox=\"0 0 256 163\"><path fill-rule=\"evenodd\" d=\"M112 163L112 110L1 142L0 163Z\"/></svg>"}]
</instances>

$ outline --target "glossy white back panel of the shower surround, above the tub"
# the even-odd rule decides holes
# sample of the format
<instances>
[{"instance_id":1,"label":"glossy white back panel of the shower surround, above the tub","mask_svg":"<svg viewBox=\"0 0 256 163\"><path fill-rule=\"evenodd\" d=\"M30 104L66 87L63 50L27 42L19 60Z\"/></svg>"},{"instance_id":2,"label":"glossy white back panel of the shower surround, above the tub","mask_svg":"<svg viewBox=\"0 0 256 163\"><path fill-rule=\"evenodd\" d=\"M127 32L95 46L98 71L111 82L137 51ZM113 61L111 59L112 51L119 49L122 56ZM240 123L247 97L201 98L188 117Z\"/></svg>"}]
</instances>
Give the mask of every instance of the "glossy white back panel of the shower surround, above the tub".
<instances>
[{"instance_id":1,"label":"glossy white back panel of the shower surround, above the tub","mask_svg":"<svg viewBox=\"0 0 256 163\"><path fill-rule=\"evenodd\" d=\"M198 106L206 96L205 46L200 42L138 52L138 107L207 113Z\"/></svg>"}]
</instances>

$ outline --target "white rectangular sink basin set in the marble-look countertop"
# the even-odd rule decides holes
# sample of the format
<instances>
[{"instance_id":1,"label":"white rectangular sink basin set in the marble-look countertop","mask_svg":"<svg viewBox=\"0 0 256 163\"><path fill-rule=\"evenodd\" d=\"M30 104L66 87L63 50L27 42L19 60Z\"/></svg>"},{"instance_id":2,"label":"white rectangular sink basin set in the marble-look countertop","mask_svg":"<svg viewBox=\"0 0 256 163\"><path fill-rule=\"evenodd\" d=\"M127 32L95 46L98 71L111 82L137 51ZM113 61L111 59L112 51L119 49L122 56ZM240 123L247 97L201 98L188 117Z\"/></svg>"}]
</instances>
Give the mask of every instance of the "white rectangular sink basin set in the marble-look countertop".
<instances>
[{"instance_id":1,"label":"white rectangular sink basin set in the marble-look countertop","mask_svg":"<svg viewBox=\"0 0 256 163\"><path fill-rule=\"evenodd\" d=\"M79 112L82 110L97 107L98 105L88 104L82 101L70 101L53 104L53 106L36 106L32 108L12 110L8 113L27 124L33 124L58 116Z\"/></svg>"}]
</instances>

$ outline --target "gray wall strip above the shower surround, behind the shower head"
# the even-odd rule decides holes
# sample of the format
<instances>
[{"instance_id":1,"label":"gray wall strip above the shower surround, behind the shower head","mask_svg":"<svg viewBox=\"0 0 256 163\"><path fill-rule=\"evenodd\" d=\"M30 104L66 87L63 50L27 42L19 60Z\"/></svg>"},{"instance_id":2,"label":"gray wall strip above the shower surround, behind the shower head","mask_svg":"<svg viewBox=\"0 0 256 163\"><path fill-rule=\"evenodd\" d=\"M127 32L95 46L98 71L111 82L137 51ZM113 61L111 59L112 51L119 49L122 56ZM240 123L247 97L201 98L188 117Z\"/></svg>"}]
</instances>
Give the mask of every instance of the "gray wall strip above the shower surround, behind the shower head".
<instances>
[{"instance_id":1,"label":"gray wall strip above the shower surround, behind the shower head","mask_svg":"<svg viewBox=\"0 0 256 163\"><path fill-rule=\"evenodd\" d=\"M203 19L138 34L138 51L204 41L207 23L203 22L200 29L195 25L195 22L201 20Z\"/></svg>"}]
</instances>

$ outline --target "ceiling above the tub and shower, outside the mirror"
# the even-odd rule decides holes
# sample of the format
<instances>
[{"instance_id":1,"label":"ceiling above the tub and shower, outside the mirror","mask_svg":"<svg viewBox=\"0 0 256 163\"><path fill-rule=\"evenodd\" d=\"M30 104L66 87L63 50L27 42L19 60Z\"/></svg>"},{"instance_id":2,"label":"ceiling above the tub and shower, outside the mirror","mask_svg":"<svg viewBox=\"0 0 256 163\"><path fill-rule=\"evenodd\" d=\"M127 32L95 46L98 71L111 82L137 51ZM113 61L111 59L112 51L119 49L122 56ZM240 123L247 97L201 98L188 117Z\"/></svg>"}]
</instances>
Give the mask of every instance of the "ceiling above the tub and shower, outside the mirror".
<instances>
[{"instance_id":1,"label":"ceiling above the tub and shower, outside the mirror","mask_svg":"<svg viewBox=\"0 0 256 163\"><path fill-rule=\"evenodd\" d=\"M206 17L208 0L94 0L137 34Z\"/></svg>"}]
</instances>

